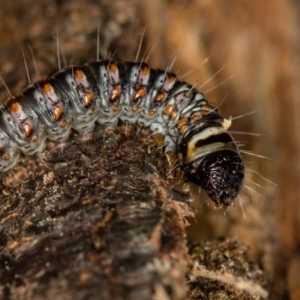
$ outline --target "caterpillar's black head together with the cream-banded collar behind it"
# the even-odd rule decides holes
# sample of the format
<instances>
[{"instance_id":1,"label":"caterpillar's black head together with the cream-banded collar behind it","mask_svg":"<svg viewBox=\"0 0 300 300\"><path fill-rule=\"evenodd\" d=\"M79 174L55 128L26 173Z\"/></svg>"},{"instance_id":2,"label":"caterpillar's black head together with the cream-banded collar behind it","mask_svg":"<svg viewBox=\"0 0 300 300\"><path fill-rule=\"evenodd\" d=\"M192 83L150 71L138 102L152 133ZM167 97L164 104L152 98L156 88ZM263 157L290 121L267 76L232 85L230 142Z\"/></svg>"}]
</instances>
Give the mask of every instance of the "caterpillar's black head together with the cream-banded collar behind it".
<instances>
[{"instance_id":1,"label":"caterpillar's black head together with the cream-banded collar behind it","mask_svg":"<svg viewBox=\"0 0 300 300\"><path fill-rule=\"evenodd\" d=\"M203 188L217 207L233 203L244 182L244 164L222 117L209 114L189 128L179 143L187 182Z\"/></svg>"}]
</instances>

